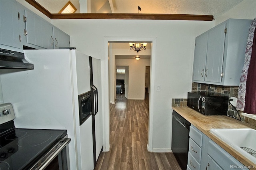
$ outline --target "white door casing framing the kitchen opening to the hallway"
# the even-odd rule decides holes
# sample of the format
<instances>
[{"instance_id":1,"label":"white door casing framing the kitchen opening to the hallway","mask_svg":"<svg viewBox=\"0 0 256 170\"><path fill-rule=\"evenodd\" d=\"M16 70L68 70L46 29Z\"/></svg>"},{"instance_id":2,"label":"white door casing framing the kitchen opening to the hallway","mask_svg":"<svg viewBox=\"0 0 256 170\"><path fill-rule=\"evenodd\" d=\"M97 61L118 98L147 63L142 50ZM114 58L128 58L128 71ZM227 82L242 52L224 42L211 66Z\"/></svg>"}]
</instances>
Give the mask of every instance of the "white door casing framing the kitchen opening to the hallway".
<instances>
[{"instance_id":1,"label":"white door casing framing the kitchen opening to the hallway","mask_svg":"<svg viewBox=\"0 0 256 170\"><path fill-rule=\"evenodd\" d=\"M149 152L152 152L152 142L153 142L153 138L152 138L152 134L153 134L153 107L154 107L154 79L155 79L155 63L156 63L156 37L150 37L150 38L127 38L127 37L105 37L105 57L104 60L105 62L104 64L104 70L102 70L102 73L104 75L108 74L110 75L112 73L112 68L114 67L113 64L113 59L111 59L112 53L111 51L109 51L110 47L111 47L111 43L113 42L149 42L151 43L151 59L150 59L150 100L149 100L149 123L148 123L148 145L147 145L147 150ZM115 67L114 67L115 68ZM130 69L130 68L129 68ZM144 67L144 71L145 71L145 67ZM143 71L143 72L144 72ZM129 70L130 73L130 70ZM145 73L145 72L144 72ZM145 78L145 77L144 77ZM144 79L143 78L143 79ZM103 97L105 99L108 99L108 97L110 97L110 89L111 87L109 86L109 81L111 81L110 76L105 76L103 78L102 81L106 82L106 86L103 87L104 90L104 94ZM129 80L129 84L130 84L130 80ZM130 91L130 86L128 87L129 91ZM104 151L109 151L110 150L110 119L109 119L109 113L110 113L110 99L106 100L104 103Z\"/></svg>"}]
</instances>

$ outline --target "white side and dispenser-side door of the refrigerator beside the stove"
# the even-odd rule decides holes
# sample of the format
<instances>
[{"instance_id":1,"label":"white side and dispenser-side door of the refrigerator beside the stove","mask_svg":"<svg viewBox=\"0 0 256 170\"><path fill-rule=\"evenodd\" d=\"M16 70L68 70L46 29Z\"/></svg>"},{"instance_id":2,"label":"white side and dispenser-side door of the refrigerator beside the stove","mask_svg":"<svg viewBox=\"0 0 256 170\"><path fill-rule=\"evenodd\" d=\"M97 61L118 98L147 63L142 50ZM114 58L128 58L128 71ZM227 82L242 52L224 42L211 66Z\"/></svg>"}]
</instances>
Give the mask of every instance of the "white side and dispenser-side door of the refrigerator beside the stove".
<instances>
[{"instance_id":1,"label":"white side and dispenser-side door of the refrigerator beside the stove","mask_svg":"<svg viewBox=\"0 0 256 170\"><path fill-rule=\"evenodd\" d=\"M93 170L92 115L80 126L78 107L78 95L91 90L89 56L74 49L24 53L28 62L34 64L33 70L1 69L0 73L3 100L14 107L15 126L67 129L71 138L70 169ZM97 119L96 124L102 124L102 118L100 121ZM100 135L97 138L103 138Z\"/></svg>"}]
</instances>

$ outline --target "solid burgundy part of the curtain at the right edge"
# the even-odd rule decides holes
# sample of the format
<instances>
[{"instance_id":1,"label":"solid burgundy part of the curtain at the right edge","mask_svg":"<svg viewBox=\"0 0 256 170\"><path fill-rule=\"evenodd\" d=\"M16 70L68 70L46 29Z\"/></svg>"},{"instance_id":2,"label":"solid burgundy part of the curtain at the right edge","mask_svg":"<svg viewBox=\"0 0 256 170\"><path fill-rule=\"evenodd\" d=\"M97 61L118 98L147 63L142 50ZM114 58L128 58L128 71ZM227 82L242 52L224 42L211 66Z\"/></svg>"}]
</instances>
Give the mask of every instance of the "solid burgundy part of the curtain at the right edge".
<instances>
[{"instance_id":1,"label":"solid burgundy part of the curtain at the right edge","mask_svg":"<svg viewBox=\"0 0 256 170\"><path fill-rule=\"evenodd\" d=\"M254 31L252 56L246 80L244 112L256 114L256 31Z\"/></svg>"}]
</instances>

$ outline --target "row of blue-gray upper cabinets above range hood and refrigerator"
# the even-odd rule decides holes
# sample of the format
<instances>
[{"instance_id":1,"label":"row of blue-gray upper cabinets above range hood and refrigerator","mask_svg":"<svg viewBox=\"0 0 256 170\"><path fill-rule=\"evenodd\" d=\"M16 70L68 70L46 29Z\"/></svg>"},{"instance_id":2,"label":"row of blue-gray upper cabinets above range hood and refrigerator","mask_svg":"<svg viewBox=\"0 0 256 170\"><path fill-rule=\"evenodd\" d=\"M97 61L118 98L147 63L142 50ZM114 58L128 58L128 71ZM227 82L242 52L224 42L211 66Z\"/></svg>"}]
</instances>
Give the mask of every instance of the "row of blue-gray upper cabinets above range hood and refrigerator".
<instances>
[{"instance_id":1,"label":"row of blue-gray upper cabinets above range hood and refrigerator","mask_svg":"<svg viewBox=\"0 0 256 170\"><path fill-rule=\"evenodd\" d=\"M16 0L0 0L0 48L23 51L70 46L70 36Z\"/></svg>"}]
</instances>

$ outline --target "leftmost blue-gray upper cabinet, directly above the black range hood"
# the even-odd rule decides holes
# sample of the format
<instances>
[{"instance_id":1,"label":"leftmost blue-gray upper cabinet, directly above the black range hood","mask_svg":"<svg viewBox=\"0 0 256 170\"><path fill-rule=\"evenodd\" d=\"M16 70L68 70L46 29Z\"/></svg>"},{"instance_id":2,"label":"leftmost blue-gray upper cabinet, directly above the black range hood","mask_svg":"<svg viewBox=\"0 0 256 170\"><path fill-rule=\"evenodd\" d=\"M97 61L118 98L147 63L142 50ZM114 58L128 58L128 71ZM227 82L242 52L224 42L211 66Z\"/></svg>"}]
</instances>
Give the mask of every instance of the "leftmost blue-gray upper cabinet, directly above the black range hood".
<instances>
[{"instance_id":1,"label":"leftmost blue-gray upper cabinet, directly above the black range hood","mask_svg":"<svg viewBox=\"0 0 256 170\"><path fill-rule=\"evenodd\" d=\"M23 22L24 8L11 0L0 1L0 47L14 51L22 51L22 38L20 26Z\"/></svg>"}]
</instances>

